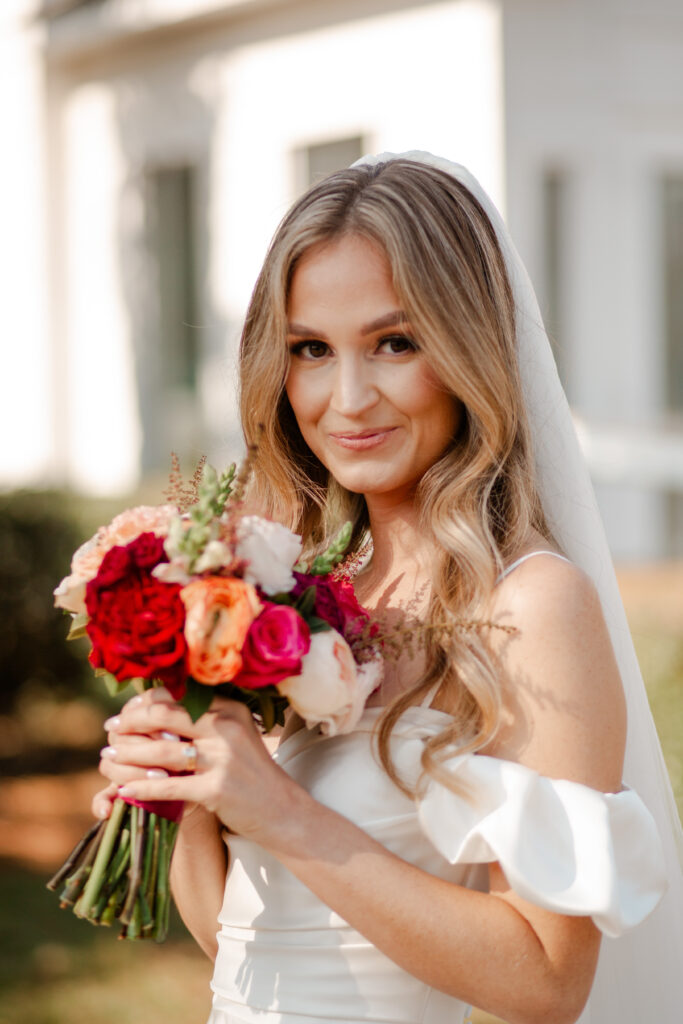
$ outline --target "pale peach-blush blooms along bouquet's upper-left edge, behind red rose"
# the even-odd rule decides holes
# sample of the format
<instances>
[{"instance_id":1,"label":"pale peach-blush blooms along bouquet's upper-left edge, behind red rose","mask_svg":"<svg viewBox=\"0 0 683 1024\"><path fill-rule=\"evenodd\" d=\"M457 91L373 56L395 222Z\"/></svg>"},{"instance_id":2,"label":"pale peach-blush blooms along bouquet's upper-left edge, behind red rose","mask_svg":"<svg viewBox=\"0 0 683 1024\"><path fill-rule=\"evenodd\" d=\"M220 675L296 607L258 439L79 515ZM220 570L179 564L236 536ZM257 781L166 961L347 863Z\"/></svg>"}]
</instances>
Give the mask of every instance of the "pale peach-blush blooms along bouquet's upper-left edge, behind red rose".
<instances>
[{"instance_id":1,"label":"pale peach-blush blooms along bouquet's upper-left edge, behind red rose","mask_svg":"<svg viewBox=\"0 0 683 1024\"><path fill-rule=\"evenodd\" d=\"M55 607L74 614L85 612L86 585L97 575L106 552L126 547L141 534L166 537L171 519L177 515L174 505L138 505L116 516L109 526L100 526L74 554L71 574L65 577L54 591Z\"/></svg>"}]
</instances>

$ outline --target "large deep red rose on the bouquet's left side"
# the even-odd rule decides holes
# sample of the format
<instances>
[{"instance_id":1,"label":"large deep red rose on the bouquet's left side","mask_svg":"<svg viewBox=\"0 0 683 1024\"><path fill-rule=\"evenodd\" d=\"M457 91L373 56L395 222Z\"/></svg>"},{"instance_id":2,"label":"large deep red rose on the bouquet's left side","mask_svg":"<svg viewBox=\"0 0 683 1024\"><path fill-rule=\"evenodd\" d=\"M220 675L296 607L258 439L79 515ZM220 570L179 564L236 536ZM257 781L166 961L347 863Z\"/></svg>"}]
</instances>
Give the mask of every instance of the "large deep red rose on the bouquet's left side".
<instances>
[{"instance_id":1,"label":"large deep red rose on the bouquet's left side","mask_svg":"<svg viewBox=\"0 0 683 1024\"><path fill-rule=\"evenodd\" d=\"M187 675L181 588L152 575L154 566L166 560L163 539L154 534L108 551L86 587L86 631L94 668L120 682L160 679L178 698Z\"/></svg>"}]
</instances>

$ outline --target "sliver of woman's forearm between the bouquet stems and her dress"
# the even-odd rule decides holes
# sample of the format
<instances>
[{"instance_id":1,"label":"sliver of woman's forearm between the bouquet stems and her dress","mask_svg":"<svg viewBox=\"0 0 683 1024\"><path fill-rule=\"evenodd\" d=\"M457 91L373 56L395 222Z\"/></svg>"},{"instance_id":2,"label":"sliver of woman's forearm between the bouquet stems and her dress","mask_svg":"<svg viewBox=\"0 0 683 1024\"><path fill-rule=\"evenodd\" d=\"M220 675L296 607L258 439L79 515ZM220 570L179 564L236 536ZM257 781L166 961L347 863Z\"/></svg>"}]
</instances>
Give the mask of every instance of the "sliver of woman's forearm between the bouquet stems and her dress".
<instances>
[{"instance_id":1,"label":"sliver of woman's forearm between the bouquet stems and her dress","mask_svg":"<svg viewBox=\"0 0 683 1024\"><path fill-rule=\"evenodd\" d=\"M180 916L212 961L227 871L221 828L215 814L193 805L183 816L171 862L171 890Z\"/></svg>"}]
</instances>

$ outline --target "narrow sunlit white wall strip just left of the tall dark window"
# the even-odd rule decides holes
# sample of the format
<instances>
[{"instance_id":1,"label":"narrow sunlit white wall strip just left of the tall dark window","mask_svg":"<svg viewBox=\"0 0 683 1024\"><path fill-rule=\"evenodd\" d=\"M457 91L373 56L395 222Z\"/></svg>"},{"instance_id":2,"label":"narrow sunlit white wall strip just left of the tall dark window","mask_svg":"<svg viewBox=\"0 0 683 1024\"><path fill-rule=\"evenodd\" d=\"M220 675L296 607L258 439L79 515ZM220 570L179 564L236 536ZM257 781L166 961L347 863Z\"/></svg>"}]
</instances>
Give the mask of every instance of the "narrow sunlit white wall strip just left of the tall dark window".
<instances>
[{"instance_id":1,"label":"narrow sunlit white wall strip just left of the tall dark window","mask_svg":"<svg viewBox=\"0 0 683 1024\"><path fill-rule=\"evenodd\" d=\"M105 495L138 479L135 365L119 247L127 169L110 88L75 89L63 115L67 474L77 489Z\"/></svg>"}]
</instances>

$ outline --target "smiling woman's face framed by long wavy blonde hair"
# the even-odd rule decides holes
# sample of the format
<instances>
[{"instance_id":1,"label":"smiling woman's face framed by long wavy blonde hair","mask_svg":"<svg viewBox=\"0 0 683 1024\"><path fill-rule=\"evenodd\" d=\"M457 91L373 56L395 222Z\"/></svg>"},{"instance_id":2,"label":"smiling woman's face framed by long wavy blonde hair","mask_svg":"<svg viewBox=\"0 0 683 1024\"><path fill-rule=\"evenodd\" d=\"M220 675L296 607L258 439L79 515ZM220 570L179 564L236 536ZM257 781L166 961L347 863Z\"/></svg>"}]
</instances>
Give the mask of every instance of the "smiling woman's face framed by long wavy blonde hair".
<instances>
[{"instance_id":1,"label":"smiling woman's face framed by long wavy blonde hair","mask_svg":"<svg viewBox=\"0 0 683 1024\"><path fill-rule=\"evenodd\" d=\"M383 251L353 234L308 250L288 319L287 394L310 450L348 490L410 498L462 407L421 353Z\"/></svg>"}]
</instances>

